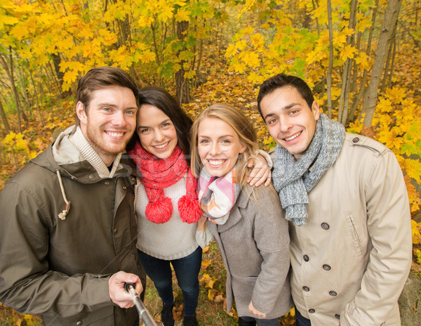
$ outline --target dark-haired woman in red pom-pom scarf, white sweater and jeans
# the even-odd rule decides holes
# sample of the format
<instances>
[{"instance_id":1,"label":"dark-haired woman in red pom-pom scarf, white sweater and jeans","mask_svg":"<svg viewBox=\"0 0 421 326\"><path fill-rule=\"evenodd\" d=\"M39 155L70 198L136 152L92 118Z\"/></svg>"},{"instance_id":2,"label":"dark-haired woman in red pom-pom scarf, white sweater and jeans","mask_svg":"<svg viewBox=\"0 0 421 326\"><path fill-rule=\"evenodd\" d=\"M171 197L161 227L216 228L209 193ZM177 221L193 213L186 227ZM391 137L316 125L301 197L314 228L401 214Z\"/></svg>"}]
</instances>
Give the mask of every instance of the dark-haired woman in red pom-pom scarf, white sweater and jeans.
<instances>
[{"instance_id":1,"label":"dark-haired woman in red pom-pom scarf, white sweater and jeans","mask_svg":"<svg viewBox=\"0 0 421 326\"><path fill-rule=\"evenodd\" d=\"M163 301L163 325L175 323L171 263L182 289L183 325L195 326L202 249L196 242L201 218L197 181L189 167L193 122L163 89L141 89L138 100L135 145L128 150L140 178L135 193L138 257ZM255 174L250 183L270 181L267 167Z\"/></svg>"}]
</instances>

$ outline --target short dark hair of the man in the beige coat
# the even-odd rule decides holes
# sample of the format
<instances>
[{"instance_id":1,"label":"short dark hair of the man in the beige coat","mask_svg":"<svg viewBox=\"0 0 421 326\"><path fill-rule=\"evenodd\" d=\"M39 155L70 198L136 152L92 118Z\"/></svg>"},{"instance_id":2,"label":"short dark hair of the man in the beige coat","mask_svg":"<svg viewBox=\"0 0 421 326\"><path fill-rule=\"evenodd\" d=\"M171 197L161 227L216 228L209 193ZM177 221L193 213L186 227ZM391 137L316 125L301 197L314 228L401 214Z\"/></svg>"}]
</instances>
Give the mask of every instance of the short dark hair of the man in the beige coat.
<instances>
[{"instance_id":1,"label":"short dark hair of the man in the beige coat","mask_svg":"<svg viewBox=\"0 0 421 326\"><path fill-rule=\"evenodd\" d=\"M313 92L304 80L300 77L290 76L288 74L276 74L276 76L263 81L263 84L260 86L258 95L258 110L260 115L262 115L262 107L260 107L262 99L267 96L267 94L272 93L275 89L281 89L288 86L294 87L307 102L310 109L312 108L314 102Z\"/></svg>"}]
</instances>

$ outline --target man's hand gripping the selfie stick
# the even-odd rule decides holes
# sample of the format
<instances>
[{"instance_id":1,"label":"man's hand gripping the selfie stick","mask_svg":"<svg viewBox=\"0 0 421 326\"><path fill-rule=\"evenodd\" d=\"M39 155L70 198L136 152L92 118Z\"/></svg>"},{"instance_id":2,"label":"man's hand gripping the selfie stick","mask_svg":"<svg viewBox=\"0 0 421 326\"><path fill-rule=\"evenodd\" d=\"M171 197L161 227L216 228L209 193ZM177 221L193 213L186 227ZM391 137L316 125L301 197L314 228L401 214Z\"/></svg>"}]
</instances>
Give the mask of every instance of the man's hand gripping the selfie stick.
<instances>
[{"instance_id":1,"label":"man's hand gripping the selfie stick","mask_svg":"<svg viewBox=\"0 0 421 326\"><path fill-rule=\"evenodd\" d=\"M120 308L131 308L135 304L131 294L124 289L125 283L135 284L136 293L142 293L143 287L138 275L120 270L118 273L111 275L111 278L108 280L109 299Z\"/></svg>"}]
</instances>

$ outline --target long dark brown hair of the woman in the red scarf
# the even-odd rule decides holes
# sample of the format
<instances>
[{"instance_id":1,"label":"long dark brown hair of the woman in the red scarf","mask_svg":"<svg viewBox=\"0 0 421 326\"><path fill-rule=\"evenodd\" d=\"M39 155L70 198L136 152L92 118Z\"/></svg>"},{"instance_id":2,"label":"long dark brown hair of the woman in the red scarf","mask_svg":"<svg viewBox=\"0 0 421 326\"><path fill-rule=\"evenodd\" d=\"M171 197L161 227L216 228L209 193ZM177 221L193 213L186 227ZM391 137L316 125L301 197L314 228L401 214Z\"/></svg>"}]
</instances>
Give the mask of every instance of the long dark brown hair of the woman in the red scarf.
<instances>
[{"instance_id":1,"label":"long dark brown hair of the woman in the red scarf","mask_svg":"<svg viewBox=\"0 0 421 326\"><path fill-rule=\"evenodd\" d=\"M182 110L182 107L168 91L155 86L146 86L140 89L138 93L138 104L141 107L143 104L154 105L167 115L175 127L177 133L178 145L186 156L189 162L190 155L190 129L192 128L193 120ZM133 134L131 142L128 144L128 149L133 148L136 141L139 141L138 133Z\"/></svg>"}]
</instances>

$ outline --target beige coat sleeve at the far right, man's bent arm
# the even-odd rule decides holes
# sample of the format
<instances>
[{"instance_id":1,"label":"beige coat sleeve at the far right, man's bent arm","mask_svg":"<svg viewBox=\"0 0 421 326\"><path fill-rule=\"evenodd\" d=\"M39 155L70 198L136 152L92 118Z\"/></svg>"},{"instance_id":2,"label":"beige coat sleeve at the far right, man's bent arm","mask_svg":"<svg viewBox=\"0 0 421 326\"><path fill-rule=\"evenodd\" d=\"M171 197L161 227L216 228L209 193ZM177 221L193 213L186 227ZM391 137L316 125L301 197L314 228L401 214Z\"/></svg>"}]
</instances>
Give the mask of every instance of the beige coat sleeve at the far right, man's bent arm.
<instances>
[{"instance_id":1,"label":"beige coat sleeve at the far right, man's bent arm","mask_svg":"<svg viewBox=\"0 0 421 326\"><path fill-rule=\"evenodd\" d=\"M373 248L361 289L341 314L342 326L385 322L396 308L412 259L408 193L393 152L375 159L364 186Z\"/></svg>"}]
</instances>

